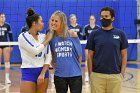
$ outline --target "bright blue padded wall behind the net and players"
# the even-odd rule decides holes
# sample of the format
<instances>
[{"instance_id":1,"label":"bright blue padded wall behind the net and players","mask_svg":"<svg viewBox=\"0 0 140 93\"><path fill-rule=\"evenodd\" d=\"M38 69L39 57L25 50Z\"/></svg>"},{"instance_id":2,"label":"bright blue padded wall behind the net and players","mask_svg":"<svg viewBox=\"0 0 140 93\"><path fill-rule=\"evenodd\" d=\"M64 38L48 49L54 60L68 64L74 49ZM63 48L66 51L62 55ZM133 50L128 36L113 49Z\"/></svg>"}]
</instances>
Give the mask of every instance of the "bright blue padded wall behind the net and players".
<instances>
[{"instance_id":1,"label":"bright blue padded wall behind the net and players","mask_svg":"<svg viewBox=\"0 0 140 93\"><path fill-rule=\"evenodd\" d=\"M136 0L0 0L0 12L6 14L6 21L11 24L14 41L17 41L21 27L25 25L26 9L32 7L43 17L45 28L48 20L56 10L66 13L68 24L69 15L77 15L77 22L84 27L88 24L91 14L96 16L96 23L100 24L100 9L110 6L115 10L114 26L122 29L128 39L136 39L137 31L134 20L137 18ZM83 48L84 49L84 48ZM83 60L85 60L83 50ZM129 44L128 60L137 60L137 44ZM21 63L18 46L14 46L11 54L11 63Z\"/></svg>"}]
</instances>

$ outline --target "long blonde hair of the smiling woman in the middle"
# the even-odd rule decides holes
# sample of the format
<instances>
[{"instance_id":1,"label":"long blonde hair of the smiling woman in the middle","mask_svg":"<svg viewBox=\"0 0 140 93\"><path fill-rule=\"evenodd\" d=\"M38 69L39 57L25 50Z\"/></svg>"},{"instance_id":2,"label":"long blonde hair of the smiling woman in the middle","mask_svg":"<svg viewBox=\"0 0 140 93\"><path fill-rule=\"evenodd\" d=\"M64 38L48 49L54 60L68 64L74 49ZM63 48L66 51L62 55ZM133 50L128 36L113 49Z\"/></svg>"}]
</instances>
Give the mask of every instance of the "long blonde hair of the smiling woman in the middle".
<instances>
[{"instance_id":1,"label":"long blonde hair of the smiling woman in the middle","mask_svg":"<svg viewBox=\"0 0 140 93\"><path fill-rule=\"evenodd\" d=\"M53 16L58 16L60 18L60 20L61 20L61 30L63 31L63 38L66 38L67 37L67 32L68 32L68 25L67 25L67 18L66 18L65 13L63 13L62 11L59 11L59 10L55 11L52 14L49 22L51 21Z\"/></svg>"}]
</instances>

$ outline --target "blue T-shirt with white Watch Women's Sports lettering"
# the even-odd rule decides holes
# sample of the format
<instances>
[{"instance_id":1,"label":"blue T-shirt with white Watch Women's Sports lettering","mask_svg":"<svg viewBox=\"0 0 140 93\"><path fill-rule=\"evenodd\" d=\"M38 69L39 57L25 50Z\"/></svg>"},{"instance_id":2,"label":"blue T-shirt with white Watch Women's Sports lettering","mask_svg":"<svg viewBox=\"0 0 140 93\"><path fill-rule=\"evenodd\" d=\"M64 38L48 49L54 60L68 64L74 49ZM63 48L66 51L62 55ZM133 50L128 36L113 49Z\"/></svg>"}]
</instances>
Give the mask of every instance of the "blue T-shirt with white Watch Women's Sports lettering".
<instances>
[{"instance_id":1,"label":"blue T-shirt with white Watch Women's Sports lettering","mask_svg":"<svg viewBox=\"0 0 140 93\"><path fill-rule=\"evenodd\" d=\"M55 76L74 77L81 76L79 56L82 55L81 44L78 37L61 38L55 36L51 43L54 53Z\"/></svg>"}]
</instances>

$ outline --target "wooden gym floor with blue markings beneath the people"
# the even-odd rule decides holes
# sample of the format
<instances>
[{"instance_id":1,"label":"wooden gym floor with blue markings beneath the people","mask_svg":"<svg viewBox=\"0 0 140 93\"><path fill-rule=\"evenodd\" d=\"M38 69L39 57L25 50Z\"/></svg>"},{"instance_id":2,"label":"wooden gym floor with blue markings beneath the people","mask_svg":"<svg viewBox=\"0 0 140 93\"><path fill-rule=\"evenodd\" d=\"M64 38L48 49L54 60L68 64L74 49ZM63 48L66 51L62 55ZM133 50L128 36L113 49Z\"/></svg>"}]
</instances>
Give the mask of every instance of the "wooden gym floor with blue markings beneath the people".
<instances>
[{"instance_id":1,"label":"wooden gym floor with blue markings beneath the people","mask_svg":"<svg viewBox=\"0 0 140 93\"><path fill-rule=\"evenodd\" d=\"M140 62L129 62L126 69L126 74L123 82L122 93L140 93ZM82 66L84 74L84 66ZM50 71L51 72L51 71ZM52 73L52 72L51 72ZM12 83L9 85L4 84L4 67L0 67L0 93L20 93L20 67L11 66L10 79ZM50 81L47 93L56 93L54 84ZM68 92L70 93L70 92ZM82 93L90 93L90 86L84 82L83 77L83 90Z\"/></svg>"}]
</instances>

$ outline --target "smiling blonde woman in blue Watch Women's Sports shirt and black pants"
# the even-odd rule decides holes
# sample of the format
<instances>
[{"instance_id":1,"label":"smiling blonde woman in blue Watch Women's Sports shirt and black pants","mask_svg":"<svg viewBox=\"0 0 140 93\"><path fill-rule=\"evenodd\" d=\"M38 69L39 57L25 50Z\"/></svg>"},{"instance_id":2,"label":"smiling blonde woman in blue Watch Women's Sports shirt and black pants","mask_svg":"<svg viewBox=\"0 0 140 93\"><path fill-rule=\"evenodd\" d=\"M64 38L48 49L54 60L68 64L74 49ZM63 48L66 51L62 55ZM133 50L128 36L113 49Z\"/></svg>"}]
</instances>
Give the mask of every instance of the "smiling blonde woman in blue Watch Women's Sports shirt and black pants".
<instances>
[{"instance_id":1,"label":"smiling blonde woman in blue Watch Women's Sports shirt and black pants","mask_svg":"<svg viewBox=\"0 0 140 93\"><path fill-rule=\"evenodd\" d=\"M68 86L71 93L81 93L82 49L77 34L68 30L66 19L62 11L55 11L50 18L49 26L55 33L50 43L55 66L54 84L56 93L67 93Z\"/></svg>"}]
</instances>

